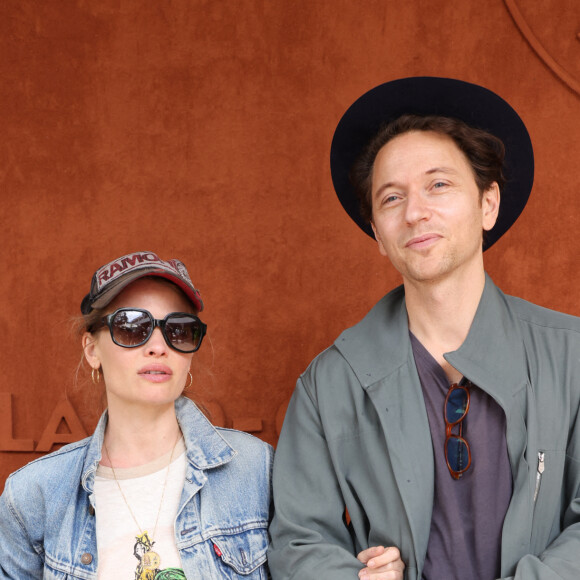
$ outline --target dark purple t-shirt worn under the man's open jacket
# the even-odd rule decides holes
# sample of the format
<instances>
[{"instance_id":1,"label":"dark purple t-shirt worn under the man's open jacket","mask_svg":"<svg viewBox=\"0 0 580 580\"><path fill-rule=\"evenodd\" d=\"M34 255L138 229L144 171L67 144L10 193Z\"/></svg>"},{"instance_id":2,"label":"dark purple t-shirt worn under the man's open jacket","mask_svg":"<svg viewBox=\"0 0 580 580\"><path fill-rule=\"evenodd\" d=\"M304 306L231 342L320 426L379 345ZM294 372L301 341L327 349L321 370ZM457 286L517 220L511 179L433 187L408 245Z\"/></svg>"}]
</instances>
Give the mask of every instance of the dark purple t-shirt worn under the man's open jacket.
<instances>
[{"instance_id":1,"label":"dark purple t-shirt worn under the man's open jacket","mask_svg":"<svg viewBox=\"0 0 580 580\"><path fill-rule=\"evenodd\" d=\"M494 580L500 577L502 526L512 495L505 414L487 393L469 387L463 437L471 450L471 466L459 480L453 479L444 450L443 408L450 383L441 365L409 334L435 462L433 515L422 578Z\"/></svg>"}]
</instances>

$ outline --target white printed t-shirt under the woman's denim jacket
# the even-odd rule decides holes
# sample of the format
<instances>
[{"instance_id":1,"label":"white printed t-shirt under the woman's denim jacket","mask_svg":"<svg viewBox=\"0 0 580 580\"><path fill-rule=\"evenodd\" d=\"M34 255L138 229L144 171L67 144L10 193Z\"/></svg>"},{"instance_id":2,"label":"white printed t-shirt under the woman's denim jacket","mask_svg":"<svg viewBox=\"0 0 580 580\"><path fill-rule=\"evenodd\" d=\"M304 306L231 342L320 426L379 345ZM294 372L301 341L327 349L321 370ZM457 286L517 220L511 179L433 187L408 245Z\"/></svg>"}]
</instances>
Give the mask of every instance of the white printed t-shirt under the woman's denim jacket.
<instances>
[{"instance_id":1,"label":"white printed t-shirt under the woman's denim jacket","mask_svg":"<svg viewBox=\"0 0 580 580\"><path fill-rule=\"evenodd\" d=\"M174 523L185 481L186 459L185 444L181 439L173 452L174 459L167 472L171 453L159 457L151 463L135 468L115 469L117 480L131 507L142 532L147 532L154 542L152 552L159 555L160 563L153 568L181 569L179 552L175 545ZM167 483L165 484L167 476ZM155 520L161 502L163 486L165 493L157 530ZM139 527L135 524L131 512L123 499L110 467L99 465L95 476L95 515L97 518L97 549L99 580L134 580L136 571L141 566L142 578L153 578L143 573L147 567L148 557L146 540L139 541ZM155 534L155 536L154 536ZM155 558L153 558L154 560Z\"/></svg>"}]
</instances>

